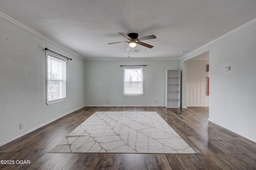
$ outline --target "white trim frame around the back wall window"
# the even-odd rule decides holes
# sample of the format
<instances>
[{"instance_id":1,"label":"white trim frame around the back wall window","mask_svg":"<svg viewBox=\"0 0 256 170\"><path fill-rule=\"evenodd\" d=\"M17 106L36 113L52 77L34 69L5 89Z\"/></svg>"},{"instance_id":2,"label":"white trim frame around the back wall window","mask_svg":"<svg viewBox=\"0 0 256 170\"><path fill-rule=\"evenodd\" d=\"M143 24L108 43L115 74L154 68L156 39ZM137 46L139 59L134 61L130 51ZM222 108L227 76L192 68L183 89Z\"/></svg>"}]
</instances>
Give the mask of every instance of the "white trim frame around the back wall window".
<instances>
[{"instance_id":1,"label":"white trim frame around the back wall window","mask_svg":"<svg viewBox=\"0 0 256 170\"><path fill-rule=\"evenodd\" d=\"M142 94L125 94L125 70L126 69L142 69L141 88ZM144 66L124 66L123 67L123 96L144 96Z\"/></svg>"}]
</instances>

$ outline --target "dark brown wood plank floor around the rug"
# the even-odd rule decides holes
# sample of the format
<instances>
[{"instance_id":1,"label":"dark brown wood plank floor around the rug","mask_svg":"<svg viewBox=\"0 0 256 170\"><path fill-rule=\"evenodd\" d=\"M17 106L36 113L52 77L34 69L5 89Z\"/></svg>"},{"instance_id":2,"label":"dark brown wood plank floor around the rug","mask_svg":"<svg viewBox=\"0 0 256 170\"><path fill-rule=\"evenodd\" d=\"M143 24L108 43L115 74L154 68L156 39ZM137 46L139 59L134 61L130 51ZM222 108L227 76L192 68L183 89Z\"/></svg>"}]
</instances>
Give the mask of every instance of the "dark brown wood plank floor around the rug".
<instances>
[{"instance_id":1,"label":"dark brown wood plank floor around the rug","mask_svg":"<svg viewBox=\"0 0 256 170\"><path fill-rule=\"evenodd\" d=\"M96 111L157 111L197 154L47 153ZM208 122L208 107L84 107L0 147L1 170L256 169L256 143Z\"/></svg>"}]
</instances>

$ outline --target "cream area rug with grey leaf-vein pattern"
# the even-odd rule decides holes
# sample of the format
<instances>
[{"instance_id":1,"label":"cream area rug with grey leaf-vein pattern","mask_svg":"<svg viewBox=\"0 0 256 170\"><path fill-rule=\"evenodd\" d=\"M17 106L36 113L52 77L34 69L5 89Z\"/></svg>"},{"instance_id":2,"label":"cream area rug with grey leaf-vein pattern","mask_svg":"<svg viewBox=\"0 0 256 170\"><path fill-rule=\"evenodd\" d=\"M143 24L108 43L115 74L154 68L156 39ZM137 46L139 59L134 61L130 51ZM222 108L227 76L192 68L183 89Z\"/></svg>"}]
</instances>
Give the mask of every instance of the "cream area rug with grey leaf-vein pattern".
<instances>
[{"instance_id":1,"label":"cream area rug with grey leaf-vein pattern","mask_svg":"<svg viewBox=\"0 0 256 170\"><path fill-rule=\"evenodd\" d=\"M155 111L97 111L50 152L196 153Z\"/></svg>"}]
</instances>

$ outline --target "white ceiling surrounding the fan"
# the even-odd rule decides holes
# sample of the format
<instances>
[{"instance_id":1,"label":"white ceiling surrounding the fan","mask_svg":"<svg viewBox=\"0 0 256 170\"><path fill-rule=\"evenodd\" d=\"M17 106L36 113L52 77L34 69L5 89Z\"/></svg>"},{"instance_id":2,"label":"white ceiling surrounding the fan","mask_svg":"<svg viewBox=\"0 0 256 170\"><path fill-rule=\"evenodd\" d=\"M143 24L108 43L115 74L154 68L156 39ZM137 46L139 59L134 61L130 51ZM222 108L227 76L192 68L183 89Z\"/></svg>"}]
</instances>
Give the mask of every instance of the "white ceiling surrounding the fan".
<instances>
[{"instance_id":1,"label":"white ceiling surrounding the fan","mask_svg":"<svg viewBox=\"0 0 256 170\"><path fill-rule=\"evenodd\" d=\"M178 59L255 19L256 0L0 0L0 11L85 59ZM157 38L128 52L108 45L127 41L118 32Z\"/></svg>"}]
</instances>

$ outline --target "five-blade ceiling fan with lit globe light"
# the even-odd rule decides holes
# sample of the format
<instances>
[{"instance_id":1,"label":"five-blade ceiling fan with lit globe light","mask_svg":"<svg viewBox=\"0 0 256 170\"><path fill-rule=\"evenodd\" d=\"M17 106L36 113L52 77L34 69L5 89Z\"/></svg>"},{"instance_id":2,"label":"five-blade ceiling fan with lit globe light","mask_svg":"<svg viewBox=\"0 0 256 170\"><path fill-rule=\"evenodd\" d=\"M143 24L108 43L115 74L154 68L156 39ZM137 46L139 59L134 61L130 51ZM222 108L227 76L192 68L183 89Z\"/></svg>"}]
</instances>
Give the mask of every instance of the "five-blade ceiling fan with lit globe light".
<instances>
[{"instance_id":1,"label":"five-blade ceiling fan with lit globe light","mask_svg":"<svg viewBox=\"0 0 256 170\"><path fill-rule=\"evenodd\" d=\"M138 34L137 33L128 33L127 35L125 33L119 33L120 35L126 37L128 40L130 41L120 41L120 42L115 42L115 43L108 43L108 44L117 44L117 43L123 43L126 42L128 43L128 47L126 49L126 51L129 51L131 49L131 47L136 47L137 44L139 45L143 45L144 47L148 47L148 48L152 48L154 46L146 44L146 43L142 43L142 40L146 40L146 39L154 39L156 38L155 35L149 35L146 37L140 37L138 38Z\"/></svg>"}]
</instances>

